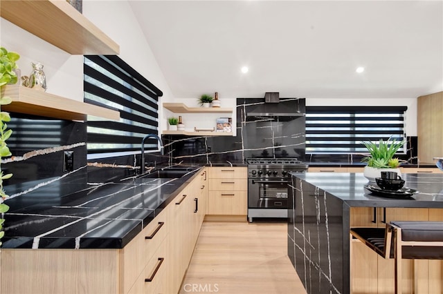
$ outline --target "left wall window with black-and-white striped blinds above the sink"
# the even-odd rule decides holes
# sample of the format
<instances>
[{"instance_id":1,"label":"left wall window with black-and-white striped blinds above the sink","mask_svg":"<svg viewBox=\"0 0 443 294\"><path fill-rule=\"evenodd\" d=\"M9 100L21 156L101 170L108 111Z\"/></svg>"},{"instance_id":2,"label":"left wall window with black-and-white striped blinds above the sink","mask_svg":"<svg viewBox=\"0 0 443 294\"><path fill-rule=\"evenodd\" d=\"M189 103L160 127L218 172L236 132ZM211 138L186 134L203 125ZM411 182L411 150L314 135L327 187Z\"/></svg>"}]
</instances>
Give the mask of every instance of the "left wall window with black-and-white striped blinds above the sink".
<instances>
[{"instance_id":1,"label":"left wall window with black-and-white striped blinds above the sink","mask_svg":"<svg viewBox=\"0 0 443 294\"><path fill-rule=\"evenodd\" d=\"M163 92L115 55L84 56L84 101L120 111L120 121L88 118L88 153L136 153L147 134L159 133ZM146 150L157 150L148 140ZM91 158L91 157L89 157Z\"/></svg>"}]
</instances>

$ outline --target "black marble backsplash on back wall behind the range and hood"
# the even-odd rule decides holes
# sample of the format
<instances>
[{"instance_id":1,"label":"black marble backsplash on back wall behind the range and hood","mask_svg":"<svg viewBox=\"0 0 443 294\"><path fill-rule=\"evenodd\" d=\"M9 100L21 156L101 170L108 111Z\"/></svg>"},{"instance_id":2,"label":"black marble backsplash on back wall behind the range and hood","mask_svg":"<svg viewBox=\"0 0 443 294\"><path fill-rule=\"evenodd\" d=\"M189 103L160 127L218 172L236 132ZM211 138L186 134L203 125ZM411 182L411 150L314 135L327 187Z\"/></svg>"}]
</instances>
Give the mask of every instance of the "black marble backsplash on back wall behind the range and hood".
<instances>
[{"instance_id":1,"label":"black marble backsplash on back wall behind the range and hood","mask_svg":"<svg viewBox=\"0 0 443 294\"><path fill-rule=\"evenodd\" d=\"M244 163L249 157L305 157L305 117L247 117L248 111L263 98L237 99L237 135L164 135L163 142L171 162L190 164ZM305 113L305 99L280 99L288 112Z\"/></svg>"}]
</instances>

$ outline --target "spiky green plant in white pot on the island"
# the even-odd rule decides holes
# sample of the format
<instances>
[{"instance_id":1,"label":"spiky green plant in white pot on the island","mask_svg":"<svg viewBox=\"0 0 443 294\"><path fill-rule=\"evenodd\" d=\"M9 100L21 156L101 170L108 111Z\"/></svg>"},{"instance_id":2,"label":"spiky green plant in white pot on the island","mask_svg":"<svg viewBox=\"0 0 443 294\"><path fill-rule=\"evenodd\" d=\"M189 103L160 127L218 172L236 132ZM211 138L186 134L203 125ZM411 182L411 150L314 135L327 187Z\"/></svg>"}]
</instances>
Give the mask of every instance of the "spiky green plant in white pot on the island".
<instances>
[{"instance_id":1,"label":"spiky green plant in white pot on the island","mask_svg":"<svg viewBox=\"0 0 443 294\"><path fill-rule=\"evenodd\" d=\"M370 182L375 182L376 177L380 177L382 170L392 170L401 175L399 166L400 161L395 156L395 153L399 150L401 146L405 144L405 141L383 141L380 139L378 144L376 142L368 141L362 142L362 144L368 149L370 155L363 157L362 162L366 162L368 165L365 166L363 175L370 180Z\"/></svg>"}]
</instances>

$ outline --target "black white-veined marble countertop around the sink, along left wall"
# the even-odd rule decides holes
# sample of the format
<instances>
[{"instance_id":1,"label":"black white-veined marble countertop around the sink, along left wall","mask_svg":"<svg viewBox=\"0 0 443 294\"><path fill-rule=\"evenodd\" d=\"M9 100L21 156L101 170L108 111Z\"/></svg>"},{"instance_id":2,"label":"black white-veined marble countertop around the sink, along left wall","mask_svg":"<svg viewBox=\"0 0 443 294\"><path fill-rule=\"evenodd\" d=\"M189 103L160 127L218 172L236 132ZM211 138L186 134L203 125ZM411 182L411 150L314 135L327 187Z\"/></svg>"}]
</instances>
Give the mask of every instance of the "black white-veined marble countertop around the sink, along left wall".
<instances>
[{"instance_id":1,"label":"black white-veined marble countertop around the sink, along left wall","mask_svg":"<svg viewBox=\"0 0 443 294\"><path fill-rule=\"evenodd\" d=\"M197 170L181 178L129 177L86 184L64 197L57 195L72 183L57 181L8 199L3 248L123 248Z\"/></svg>"}]
</instances>

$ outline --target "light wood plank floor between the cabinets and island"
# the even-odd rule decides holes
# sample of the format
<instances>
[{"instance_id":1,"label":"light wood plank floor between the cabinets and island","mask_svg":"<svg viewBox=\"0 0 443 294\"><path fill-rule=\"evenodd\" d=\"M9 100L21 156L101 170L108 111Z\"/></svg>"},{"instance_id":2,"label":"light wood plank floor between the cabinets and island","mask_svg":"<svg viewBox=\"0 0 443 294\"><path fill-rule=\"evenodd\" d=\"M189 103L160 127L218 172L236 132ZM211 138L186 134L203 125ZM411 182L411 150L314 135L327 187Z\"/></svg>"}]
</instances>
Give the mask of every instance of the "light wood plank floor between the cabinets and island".
<instances>
[{"instance_id":1,"label":"light wood plank floor between the cabinets and island","mask_svg":"<svg viewBox=\"0 0 443 294\"><path fill-rule=\"evenodd\" d=\"M204 222L180 293L306 293L287 257L287 224Z\"/></svg>"}]
</instances>

